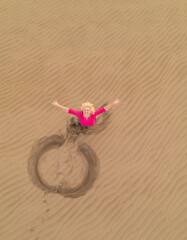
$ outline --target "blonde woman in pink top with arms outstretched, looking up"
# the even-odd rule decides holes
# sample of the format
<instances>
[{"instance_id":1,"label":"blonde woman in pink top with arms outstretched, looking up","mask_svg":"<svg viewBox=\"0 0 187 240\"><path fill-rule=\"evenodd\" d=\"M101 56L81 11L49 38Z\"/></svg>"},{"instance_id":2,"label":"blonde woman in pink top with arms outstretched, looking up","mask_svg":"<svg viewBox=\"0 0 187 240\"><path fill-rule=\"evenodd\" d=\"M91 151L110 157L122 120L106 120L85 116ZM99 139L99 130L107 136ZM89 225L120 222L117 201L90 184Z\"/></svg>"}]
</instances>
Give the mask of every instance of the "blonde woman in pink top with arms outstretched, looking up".
<instances>
[{"instance_id":1,"label":"blonde woman in pink top with arms outstretched, looking up","mask_svg":"<svg viewBox=\"0 0 187 240\"><path fill-rule=\"evenodd\" d=\"M51 102L54 106L63 109L65 112L76 115L79 118L80 124L83 126L93 126L95 125L96 116L106 112L113 105L116 105L120 102L120 99L117 98L113 103L98 110L95 110L93 104L90 102L83 103L81 106L82 111L76 111L72 108L63 107L57 103L57 101Z\"/></svg>"}]
</instances>

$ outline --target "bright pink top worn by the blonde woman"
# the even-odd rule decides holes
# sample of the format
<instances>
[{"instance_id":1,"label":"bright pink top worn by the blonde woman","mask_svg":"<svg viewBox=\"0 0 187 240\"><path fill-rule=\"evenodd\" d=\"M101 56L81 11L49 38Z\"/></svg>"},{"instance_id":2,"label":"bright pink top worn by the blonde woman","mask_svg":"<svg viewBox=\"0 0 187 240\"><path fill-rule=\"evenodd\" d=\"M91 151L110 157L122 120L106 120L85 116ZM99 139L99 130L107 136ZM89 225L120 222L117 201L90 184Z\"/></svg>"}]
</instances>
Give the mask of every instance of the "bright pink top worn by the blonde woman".
<instances>
[{"instance_id":1,"label":"bright pink top worn by the blonde woman","mask_svg":"<svg viewBox=\"0 0 187 240\"><path fill-rule=\"evenodd\" d=\"M69 110L68 110L68 113L76 115L77 117L79 117L80 124L83 125L83 126L93 126L93 125L95 125L96 116L103 113L103 112L106 112L106 109L105 108L100 108L100 109L96 110L95 113L92 114L89 118L86 119L83 115L83 111L76 111L76 110L71 109L71 108L69 108Z\"/></svg>"}]
</instances>

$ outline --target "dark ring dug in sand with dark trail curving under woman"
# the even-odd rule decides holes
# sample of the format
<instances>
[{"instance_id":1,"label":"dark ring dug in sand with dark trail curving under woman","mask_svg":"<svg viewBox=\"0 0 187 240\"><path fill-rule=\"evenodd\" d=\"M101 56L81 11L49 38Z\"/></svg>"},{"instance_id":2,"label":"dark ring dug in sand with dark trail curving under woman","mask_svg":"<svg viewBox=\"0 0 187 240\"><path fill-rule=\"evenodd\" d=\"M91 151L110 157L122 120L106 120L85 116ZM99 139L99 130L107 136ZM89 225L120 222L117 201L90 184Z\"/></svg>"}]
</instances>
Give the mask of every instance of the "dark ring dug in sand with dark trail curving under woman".
<instances>
[{"instance_id":1,"label":"dark ring dug in sand with dark trail curving under woman","mask_svg":"<svg viewBox=\"0 0 187 240\"><path fill-rule=\"evenodd\" d=\"M68 187L60 184L50 185L40 174L39 161L42 155L47 151L62 147L66 141L75 142L79 134L90 134L102 131L106 128L109 116L109 113L104 112L102 114L103 120L95 126L82 126L75 118L71 118L71 123L68 123L66 129L66 137L54 134L52 136L39 139L33 145L28 159L28 172L31 176L33 184L37 185L45 192L59 193L64 197L76 198L84 195L93 186L99 172L99 159L97 158L94 150L88 144L81 143L77 148L77 152L86 159L87 164L83 180L75 187Z\"/></svg>"}]
</instances>

